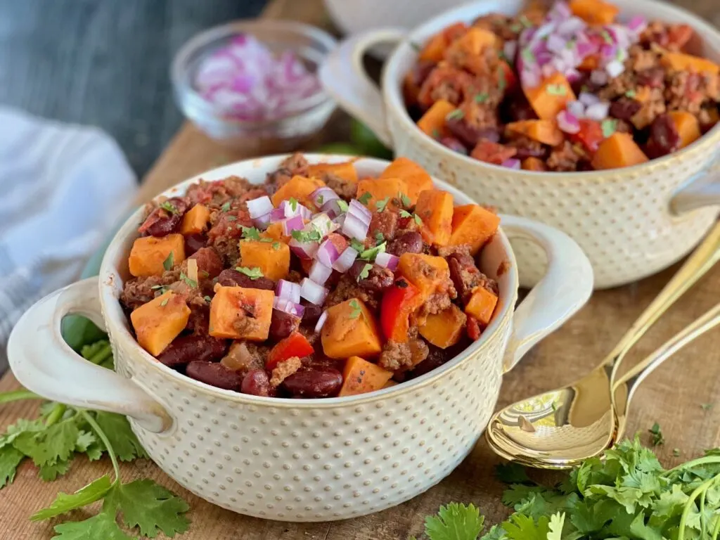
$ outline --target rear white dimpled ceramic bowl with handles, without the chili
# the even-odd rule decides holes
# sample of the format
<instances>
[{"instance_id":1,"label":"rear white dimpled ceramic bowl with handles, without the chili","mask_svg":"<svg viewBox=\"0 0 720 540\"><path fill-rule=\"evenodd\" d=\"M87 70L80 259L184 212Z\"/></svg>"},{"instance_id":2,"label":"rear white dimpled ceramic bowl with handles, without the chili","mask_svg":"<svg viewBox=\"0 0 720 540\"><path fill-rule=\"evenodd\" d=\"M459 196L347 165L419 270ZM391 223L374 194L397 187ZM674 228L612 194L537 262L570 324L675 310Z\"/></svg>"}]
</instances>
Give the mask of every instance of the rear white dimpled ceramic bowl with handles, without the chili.
<instances>
[{"instance_id":1,"label":"rear white dimpled ceramic bowl with handles, without the chili","mask_svg":"<svg viewBox=\"0 0 720 540\"><path fill-rule=\"evenodd\" d=\"M421 132L405 111L402 78L417 58L411 44L458 21L488 13L518 12L524 0L464 4L411 32L382 29L355 35L330 53L320 68L325 89L365 122L397 156L500 212L531 217L564 231L587 253L595 287L614 287L654 274L685 256L716 220L720 170L714 168L720 125L687 148L639 166L611 171L516 171L453 152ZM690 24L703 38L702 53L720 61L720 32L692 14L654 0L613 0L622 17L642 14ZM397 43L382 75L382 89L366 76L362 55L379 42ZM711 171L711 169L713 169ZM546 257L531 243L513 242L521 284L544 273Z\"/></svg>"}]
</instances>

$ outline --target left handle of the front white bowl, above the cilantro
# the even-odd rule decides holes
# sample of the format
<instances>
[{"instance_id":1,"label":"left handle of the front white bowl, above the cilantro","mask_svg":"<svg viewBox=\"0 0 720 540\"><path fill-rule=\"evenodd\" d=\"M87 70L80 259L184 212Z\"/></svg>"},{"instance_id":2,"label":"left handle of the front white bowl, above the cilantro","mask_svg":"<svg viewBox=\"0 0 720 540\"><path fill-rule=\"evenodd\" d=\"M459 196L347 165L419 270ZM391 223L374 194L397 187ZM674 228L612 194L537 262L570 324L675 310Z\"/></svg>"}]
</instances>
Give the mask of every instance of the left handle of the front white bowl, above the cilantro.
<instances>
[{"instance_id":1,"label":"left handle of the front white bowl, above the cilantro","mask_svg":"<svg viewBox=\"0 0 720 540\"><path fill-rule=\"evenodd\" d=\"M22 315L7 345L20 384L48 400L132 416L154 433L168 429L170 415L138 384L91 364L65 343L60 323L71 314L84 315L104 329L97 277L48 294Z\"/></svg>"}]
</instances>

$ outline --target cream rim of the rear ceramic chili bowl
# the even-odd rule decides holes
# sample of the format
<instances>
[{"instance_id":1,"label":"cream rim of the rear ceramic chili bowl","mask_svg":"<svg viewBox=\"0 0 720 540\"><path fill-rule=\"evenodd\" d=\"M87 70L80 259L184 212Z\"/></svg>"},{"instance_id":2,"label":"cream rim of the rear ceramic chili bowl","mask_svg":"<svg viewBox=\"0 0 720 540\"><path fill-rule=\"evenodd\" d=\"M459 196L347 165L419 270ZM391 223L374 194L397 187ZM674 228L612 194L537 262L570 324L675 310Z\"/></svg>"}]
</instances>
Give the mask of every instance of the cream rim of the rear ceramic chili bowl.
<instances>
[{"instance_id":1,"label":"cream rim of the rear ceramic chili bowl","mask_svg":"<svg viewBox=\"0 0 720 540\"><path fill-rule=\"evenodd\" d=\"M613 4L621 8L620 15L622 16L624 12L624 6L622 6L621 4L623 4L624 2L622 0L612 1ZM516 2L516 4L519 3ZM647 12L653 12L652 10L657 11L660 4L662 8L661 11L663 13L674 15L678 18L680 22L690 24L690 26L693 27L693 30L698 34L698 36L701 37L703 43L705 45L708 45L708 47L714 48L714 50L716 50L716 53L720 55L720 30L717 30L711 24L705 22L703 19L697 17L695 14L688 12L687 10L679 6L670 5L665 2L657 2L657 0L633 0L633 4L641 6L639 9L642 9L642 7L644 6L645 8L647 8ZM415 125L415 122L413 122L413 119L410 118L410 114L408 114L408 109L405 107L404 99L402 99L401 81L404 73L395 73L395 71L399 69L399 64L401 63L401 61L406 60L408 56L412 55L413 57L417 58L418 51L415 50L415 47L413 47L412 44L417 43L418 38L425 40L426 36L431 33L431 30L438 26L441 21L443 22L444 26L447 26L452 22L467 22L467 19L469 17L478 17L482 14L489 13L491 9L497 5L497 0L472 1L467 4L455 6L451 9L446 9L443 12L438 13L435 17L432 17L431 19L426 20L426 22L423 22L422 24L409 30L407 35L405 35L405 38L397 44L394 50L392 50L392 53L390 53L390 56L387 58L382 68L381 91L385 104L386 125L387 117L389 117L390 114L393 114L395 119L400 122L400 125L402 125L402 127L404 127L405 130L409 133L409 136L415 138L415 143L426 145L427 148L441 153L441 156L445 159L455 159L467 165L490 168L491 171L503 171L504 173L517 174L518 176L527 176L531 179L552 177L553 179L567 180L572 176L579 177L579 179L582 180L605 181L613 179L612 175L618 174L620 171L622 171L623 174L633 175L644 173L645 169L648 166L670 166L672 161L683 159L689 154L702 153L703 150L710 150L711 146L720 144L720 122L718 122L716 123L716 125L714 125L714 127L711 128L711 130L708 130L708 132L701 135L698 140L693 141L693 143L685 146L685 148L680 148L680 150L676 150L675 152L667 154L667 156L650 159L649 161L646 161L644 163L639 163L637 165L629 167L601 169L598 171L567 172L527 171L525 169L511 169L508 167L495 165L494 163L486 163L485 161L480 161L471 158L470 156L465 156L461 153L457 153L453 150L450 150L449 148L446 148L446 146L444 145L441 145L440 143L438 143L437 140L420 131L418 126Z\"/></svg>"}]
</instances>

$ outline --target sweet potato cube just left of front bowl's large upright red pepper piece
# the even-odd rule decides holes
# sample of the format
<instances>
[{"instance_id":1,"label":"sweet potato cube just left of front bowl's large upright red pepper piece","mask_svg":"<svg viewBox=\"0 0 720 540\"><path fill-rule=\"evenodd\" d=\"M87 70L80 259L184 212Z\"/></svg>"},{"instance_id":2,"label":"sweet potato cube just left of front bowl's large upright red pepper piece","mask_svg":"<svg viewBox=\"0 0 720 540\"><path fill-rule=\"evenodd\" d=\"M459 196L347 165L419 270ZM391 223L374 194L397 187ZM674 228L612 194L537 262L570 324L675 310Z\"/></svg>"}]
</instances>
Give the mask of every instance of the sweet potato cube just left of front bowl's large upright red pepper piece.
<instances>
[{"instance_id":1,"label":"sweet potato cube just left of front bowl's large upright red pepper piece","mask_svg":"<svg viewBox=\"0 0 720 540\"><path fill-rule=\"evenodd\" d=\"M380 354L382 341L377 323L362 300L351 298L329 307L327 312L320 334L325 356L343 359Z\"/></svg>"}]
</instances>

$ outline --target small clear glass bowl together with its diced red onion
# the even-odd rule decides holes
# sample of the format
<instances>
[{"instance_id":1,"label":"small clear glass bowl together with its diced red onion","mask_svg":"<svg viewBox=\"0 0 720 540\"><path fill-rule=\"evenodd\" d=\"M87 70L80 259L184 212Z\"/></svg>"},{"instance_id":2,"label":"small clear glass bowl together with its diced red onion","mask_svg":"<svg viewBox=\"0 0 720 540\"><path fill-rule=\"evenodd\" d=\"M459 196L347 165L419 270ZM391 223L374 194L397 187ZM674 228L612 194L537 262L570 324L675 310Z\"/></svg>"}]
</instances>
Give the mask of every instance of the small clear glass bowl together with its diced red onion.
<instances>
[{"instance_id":1,"label":"small clear glass bowl together with its diced red onion","mask_svg":"<svg viewBox=\"0 0 720 540\"><path fill-rule=\"evenodd\" d=\"M335 105L318 66L336 46L327 32L290 21L241 21L194 36L171 78L185 116L220 143L263 153L300 147Z\"/></svg>"}]
</instances>

